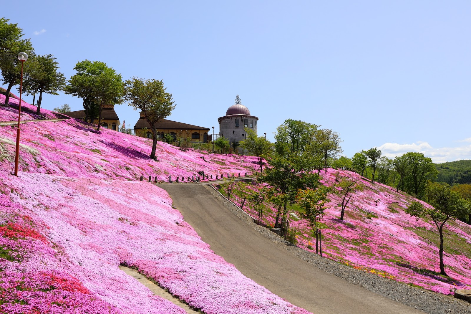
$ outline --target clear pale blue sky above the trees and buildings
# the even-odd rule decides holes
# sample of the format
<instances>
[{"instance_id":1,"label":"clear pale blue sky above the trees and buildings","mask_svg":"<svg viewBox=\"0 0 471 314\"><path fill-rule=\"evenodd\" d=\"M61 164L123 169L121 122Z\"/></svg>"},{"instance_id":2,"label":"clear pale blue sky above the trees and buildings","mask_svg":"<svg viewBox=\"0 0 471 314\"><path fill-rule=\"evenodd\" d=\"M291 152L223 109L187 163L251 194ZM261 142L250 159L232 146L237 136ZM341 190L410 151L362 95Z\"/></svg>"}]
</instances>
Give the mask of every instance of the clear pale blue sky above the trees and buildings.
<instances>
[{"instance_id":1,"label":"clear pale blue sky above the trees and buildings","mask_svg":"<svg viewBox=\"0 0 471 314\"><path fill-rule=\"evenodd\" d=\"M238 94L271 140L292 118L339 132L348 157L379 147L471 159L469 1L23 3L2 3L0 16L67 78L89 59L123 79L163 79L170 120L218 132ZM64 94L42 106L64 103L82 109ZM126 126L138 120L126 103L116 112Z\"/></svg>"}]
</instances>

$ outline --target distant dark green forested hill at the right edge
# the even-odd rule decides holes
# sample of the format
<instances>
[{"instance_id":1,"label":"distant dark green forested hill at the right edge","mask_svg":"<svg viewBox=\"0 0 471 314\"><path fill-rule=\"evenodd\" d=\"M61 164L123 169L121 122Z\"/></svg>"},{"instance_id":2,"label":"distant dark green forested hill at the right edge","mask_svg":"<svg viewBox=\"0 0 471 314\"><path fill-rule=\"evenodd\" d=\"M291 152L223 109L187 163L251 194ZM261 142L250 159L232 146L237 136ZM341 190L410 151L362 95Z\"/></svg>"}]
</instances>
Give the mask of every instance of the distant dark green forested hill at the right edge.
<instances>
[{"instance_id":1,"label":"distant dark green forested hill at the right edge","mask_svg":"<svg viewBox=\"0 0 471 314\"><path fill-rule=\"evenodd\" d=\"M435 167L439 171L437 182L471 184L471 160L457 160L435 164Z\"/></svg>"}]
</instances>

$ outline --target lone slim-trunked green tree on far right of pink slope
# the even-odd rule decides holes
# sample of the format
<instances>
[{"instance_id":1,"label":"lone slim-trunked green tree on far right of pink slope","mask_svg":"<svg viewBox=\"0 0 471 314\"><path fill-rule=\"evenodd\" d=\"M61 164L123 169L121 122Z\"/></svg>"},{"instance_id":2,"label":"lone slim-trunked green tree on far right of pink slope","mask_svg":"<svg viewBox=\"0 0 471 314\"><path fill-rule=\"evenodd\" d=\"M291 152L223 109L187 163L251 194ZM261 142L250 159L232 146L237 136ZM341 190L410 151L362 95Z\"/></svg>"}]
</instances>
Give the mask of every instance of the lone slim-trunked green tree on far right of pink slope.
<instances>
[{"instance_id":1,"label":"lone slim-trunked green tree on far right of pink slope","mask_svg":"<svg viewBox=\"0 0 471 314\"><path fill-rule=\"evenodd\" d=\"M432 208L424 207L420 202L412 202L406 209L406 213L411 216L430 217L440 234L440 274L447 275L443 264L443 226L448 220L459 218L469 211L470 203L460 197L460 194L450 190L449 187L438 183L430 184L427 187Z\"/></svg>"}]
</instances>

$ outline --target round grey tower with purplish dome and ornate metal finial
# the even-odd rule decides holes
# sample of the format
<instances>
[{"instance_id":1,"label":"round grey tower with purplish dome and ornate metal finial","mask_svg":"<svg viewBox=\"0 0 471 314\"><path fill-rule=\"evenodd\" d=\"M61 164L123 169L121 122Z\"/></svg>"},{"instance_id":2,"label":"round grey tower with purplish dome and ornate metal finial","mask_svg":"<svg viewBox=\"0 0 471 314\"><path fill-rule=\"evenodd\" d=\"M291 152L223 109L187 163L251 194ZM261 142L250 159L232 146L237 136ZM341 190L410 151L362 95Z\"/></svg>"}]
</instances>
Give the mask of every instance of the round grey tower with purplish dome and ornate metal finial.
<instances>
[{"instance_id":1,"label":"round grey tower with purplish dome and ornate metal finial","mask_svg":"<svg viewBox=\"0 0 471 314\"><path fill-rule=\"evenodd\" d=\"M249 128L257 133L257 121L259 118L250 114L249 108L245 107L239 98L226 111L226 116L218 118L219 136L224 136L232 145L232 142L245 140L244 128Z\"/></svg>"}]
</instances>

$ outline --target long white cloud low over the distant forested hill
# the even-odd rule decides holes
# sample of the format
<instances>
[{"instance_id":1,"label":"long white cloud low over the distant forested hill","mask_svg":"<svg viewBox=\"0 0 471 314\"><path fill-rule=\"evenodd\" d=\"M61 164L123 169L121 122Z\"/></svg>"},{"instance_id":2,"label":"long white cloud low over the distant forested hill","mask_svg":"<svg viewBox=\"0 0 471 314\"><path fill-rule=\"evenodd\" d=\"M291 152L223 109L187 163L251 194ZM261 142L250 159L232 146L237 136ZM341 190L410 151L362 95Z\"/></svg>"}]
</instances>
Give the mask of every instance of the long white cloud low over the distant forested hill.
<instances>
[{"instance_id":1,"label":"long white cloud low over the distant forested hill","mask_svg":"<svg viewBox=\"0 0 471 314\"><path fill-rule=\"evenodd\" d=\"M468 142L468 140L460 141ZM417 142L412 144L384 143L378 148L381 149L383 156L390 158L401 156L406 152L413 151L423 153L425 157L431 157L434 163L471 159L471 145L433 148L427 142Z\"/></svg>"}]
</instances>

